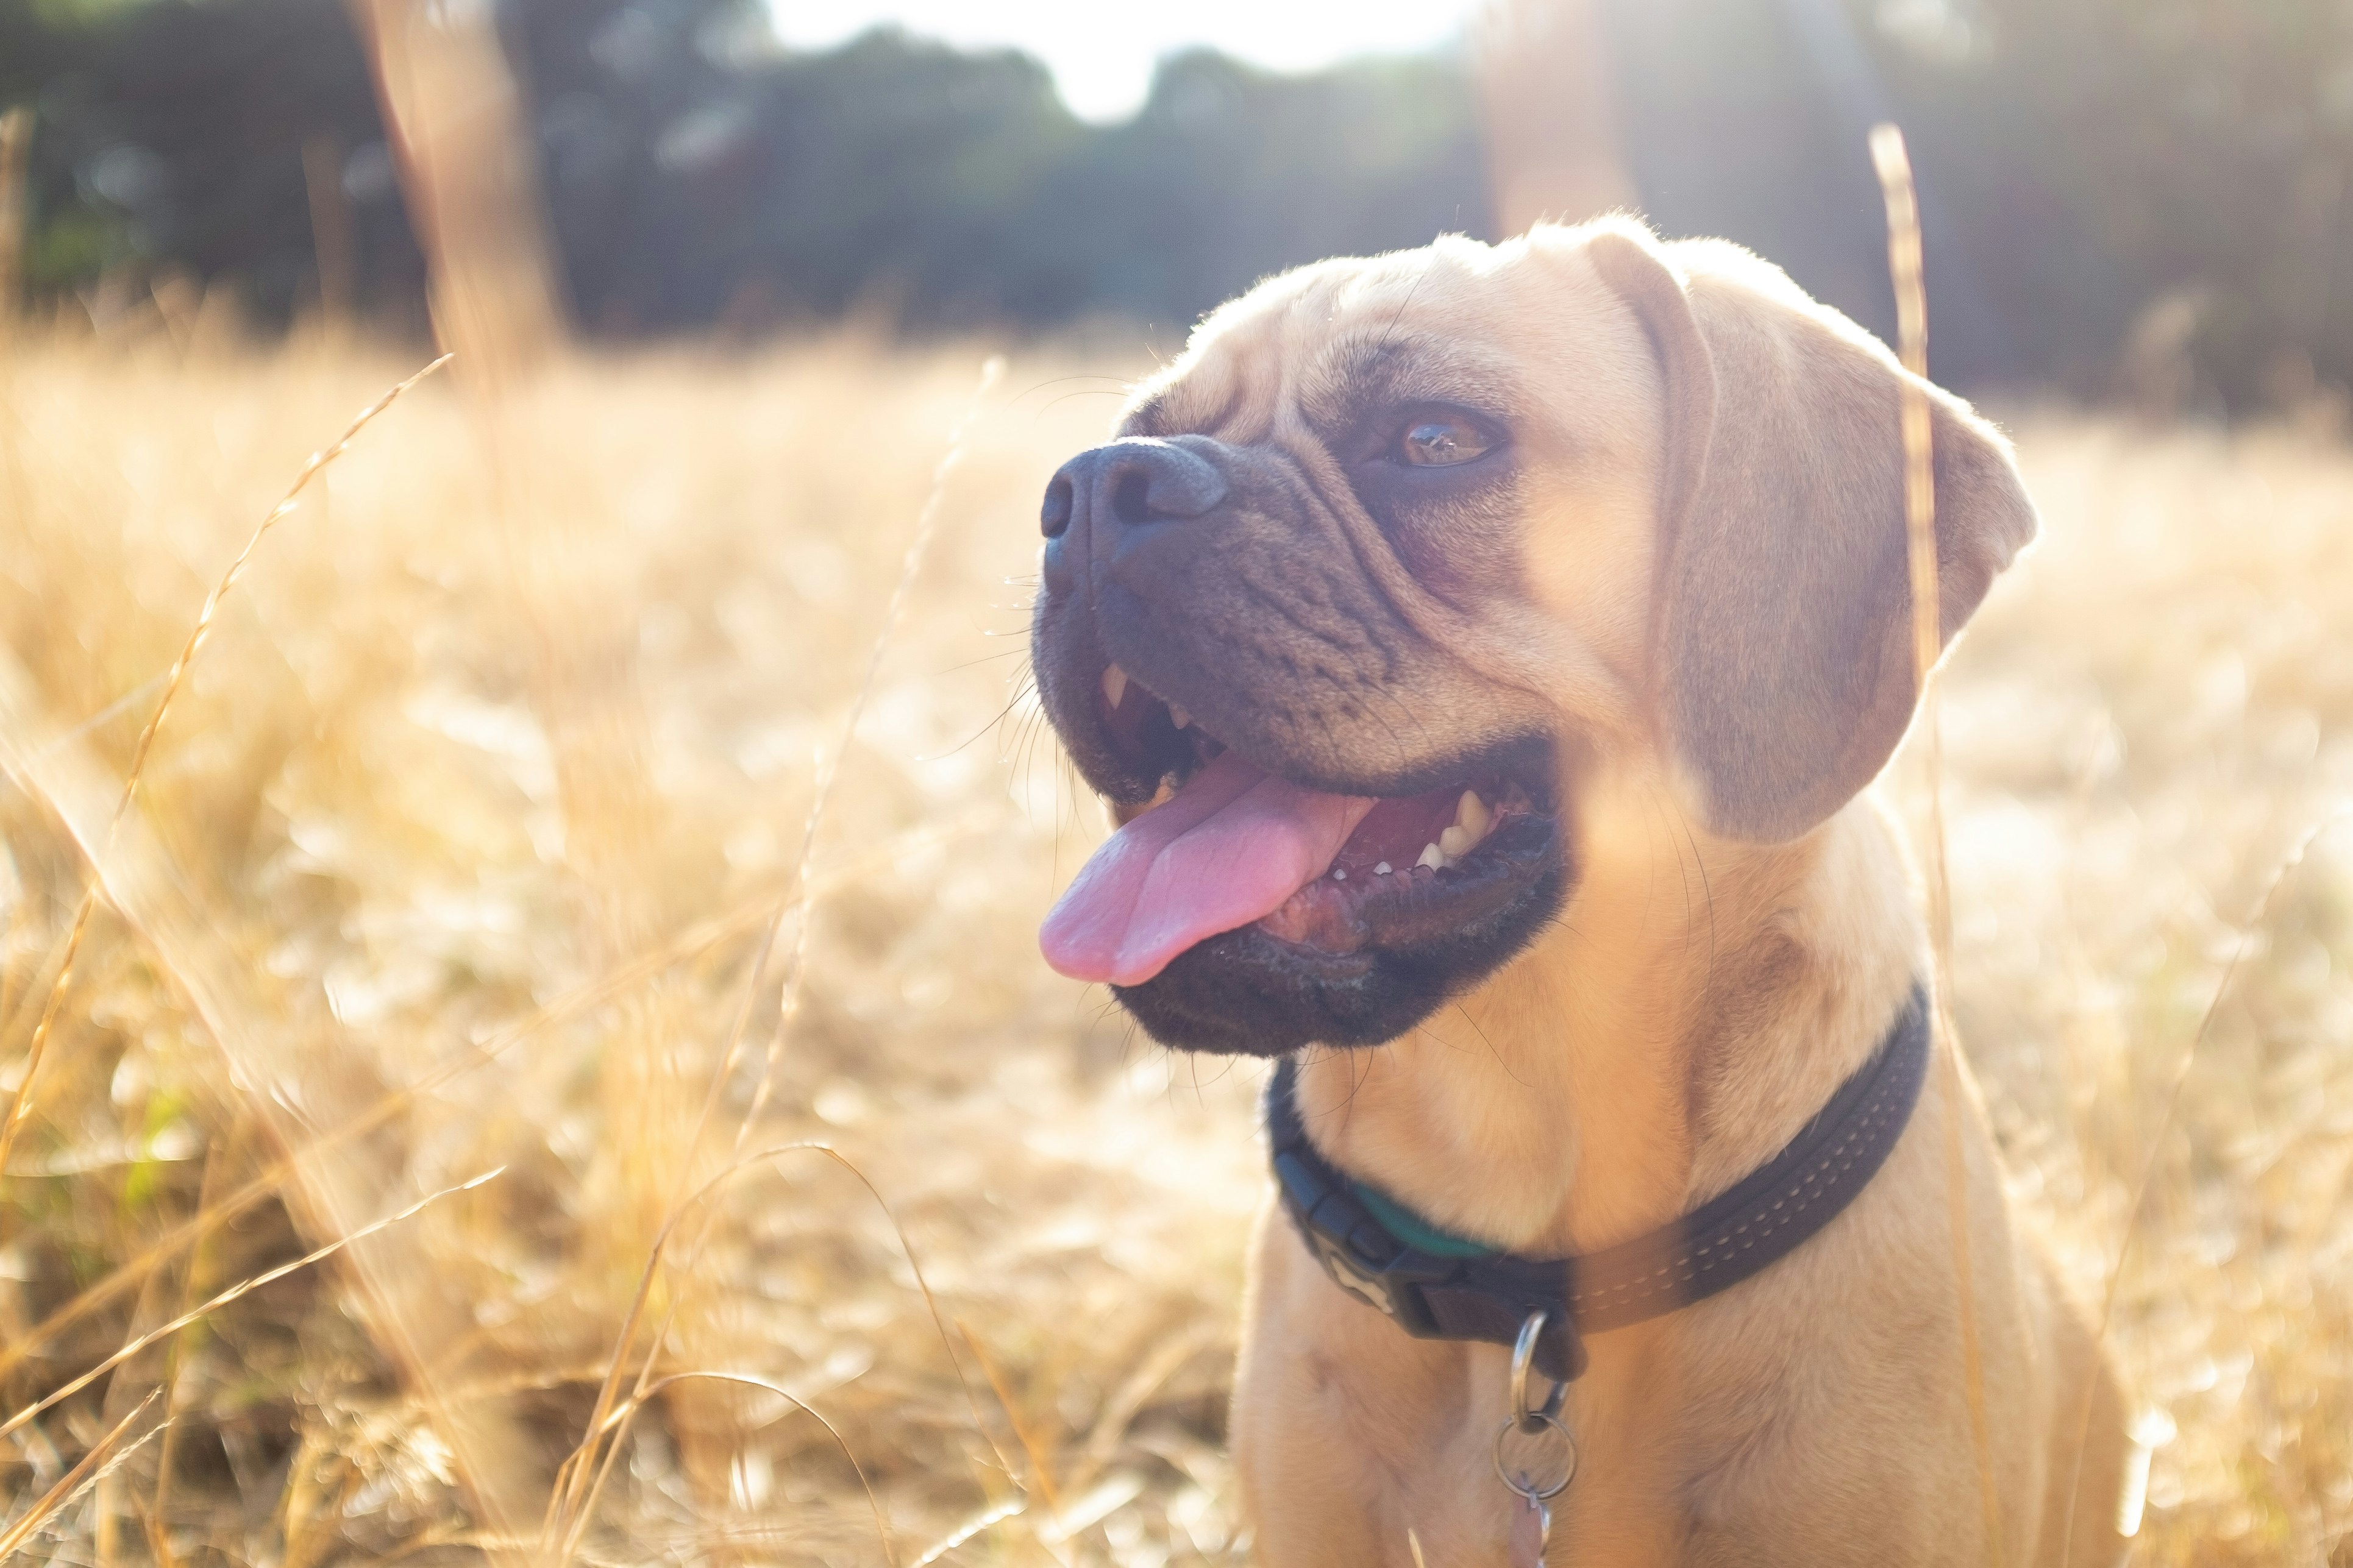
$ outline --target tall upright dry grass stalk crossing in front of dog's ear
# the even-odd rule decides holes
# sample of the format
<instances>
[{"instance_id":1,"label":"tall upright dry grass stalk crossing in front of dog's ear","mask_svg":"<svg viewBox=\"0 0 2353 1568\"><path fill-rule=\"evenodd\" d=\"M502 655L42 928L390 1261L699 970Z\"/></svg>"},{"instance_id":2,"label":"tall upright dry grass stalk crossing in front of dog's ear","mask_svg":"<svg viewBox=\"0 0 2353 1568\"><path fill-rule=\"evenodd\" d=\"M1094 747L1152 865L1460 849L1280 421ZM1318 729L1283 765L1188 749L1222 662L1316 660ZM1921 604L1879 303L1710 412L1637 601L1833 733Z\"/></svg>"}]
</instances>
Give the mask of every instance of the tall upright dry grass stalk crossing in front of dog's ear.
<instances>
[{"instance_id":1,"label":"tall upright dry grass stalk crossing in front of dog's ear","mask_svg":"<svg viewBox=\"0 0 2353 1568\"><path fill-rule=\"evenodd\" d=\"M1993 1439L1986 1425L1986 1373L1977 1331L1977 1288L1969 1260L1965 1208L1967 1166L1960 1117L1967 1084L1960 1070L1960 1032L1953 1027L1953 886L1944 863L1944 757L1937 726L1937 658L1944 654L1944 599L1937 585L1937 454L1927 404L1927 287L1920 268L1920 200L1913 190L1904 132L1871 127L1871 165L1887 202L1887 270L1897 292L1897 343L1915 378L1901 393L1904 435L1904 555L1911 567L1913 691L1918 693L1920 766L1927 776L1929 947L1937 964L1934 1011L1944 1037L1944 1190L1953 1232L1953 1288L1960 1302L1960 1371L1969 1399L1969 1439L1977 1448L1977 1495L1986 1516L1988 1561L2002 1561L2002 1505L1993 1481Z\"/></svg>"}]
</instances>

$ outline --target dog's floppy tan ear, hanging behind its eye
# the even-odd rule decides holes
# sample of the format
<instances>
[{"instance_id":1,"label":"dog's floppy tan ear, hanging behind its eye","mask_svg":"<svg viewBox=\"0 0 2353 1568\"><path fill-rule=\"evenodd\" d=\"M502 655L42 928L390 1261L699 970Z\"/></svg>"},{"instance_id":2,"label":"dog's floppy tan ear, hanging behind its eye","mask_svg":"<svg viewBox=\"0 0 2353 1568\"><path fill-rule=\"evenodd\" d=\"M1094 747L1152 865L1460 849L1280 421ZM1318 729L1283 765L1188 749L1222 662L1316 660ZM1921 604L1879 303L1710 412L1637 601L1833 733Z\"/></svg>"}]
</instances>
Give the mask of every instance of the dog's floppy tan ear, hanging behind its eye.
<instances>
[{"instance_id":1,"label":"dog's floppy tan ear, hanging behind its eye","mask_svg":"<svg viewBox=\"0 0 2353 1568\"><path fill-rule=\"evenodd\" d=\"M1711 830L1793 839L1887 764L1913 712L1899 390L1847 317L1722 242L1621 226L1588 256L1666 378L1652 682ZM2035 534L2009 444L1929 388L1951 642Z\"/></svg>"}]
</instances>

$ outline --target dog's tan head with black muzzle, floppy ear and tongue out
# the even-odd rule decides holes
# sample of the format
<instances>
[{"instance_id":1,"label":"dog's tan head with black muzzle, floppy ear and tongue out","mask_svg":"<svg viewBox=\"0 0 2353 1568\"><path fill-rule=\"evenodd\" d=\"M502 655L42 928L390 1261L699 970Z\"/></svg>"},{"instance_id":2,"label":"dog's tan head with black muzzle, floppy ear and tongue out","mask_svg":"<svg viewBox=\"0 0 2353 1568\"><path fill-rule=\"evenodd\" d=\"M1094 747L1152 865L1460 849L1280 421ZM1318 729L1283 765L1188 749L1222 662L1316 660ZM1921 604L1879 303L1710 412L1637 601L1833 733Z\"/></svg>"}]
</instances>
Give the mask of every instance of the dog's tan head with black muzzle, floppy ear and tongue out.
<instances>
[{"instance_id":1,"label":"dog's tan head with black muzzle, floppy ear and tongue out","mask_svg":"<svg viewBox=\"0 0 2353 1568\"><path fill-rule=\"evenodd\" d=\"M1045 710L1125 827L1047 922L1172 1046L1400 1037L1577 882L1577 780L1807 835L1913 710L1906 371L1626 221L1275 277L1045 496ZM1941 623L2033 536L1932 393Z\"/></svg>"}]
</instances>

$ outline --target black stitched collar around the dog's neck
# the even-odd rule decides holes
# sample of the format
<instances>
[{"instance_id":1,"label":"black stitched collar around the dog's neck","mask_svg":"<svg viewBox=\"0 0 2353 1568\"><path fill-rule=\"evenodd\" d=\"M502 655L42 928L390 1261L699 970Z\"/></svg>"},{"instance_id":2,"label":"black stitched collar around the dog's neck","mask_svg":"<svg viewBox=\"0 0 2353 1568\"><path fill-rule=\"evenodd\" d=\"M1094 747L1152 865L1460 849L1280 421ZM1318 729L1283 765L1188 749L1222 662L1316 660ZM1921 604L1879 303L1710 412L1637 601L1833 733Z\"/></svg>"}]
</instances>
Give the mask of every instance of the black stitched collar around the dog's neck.
<instances>
[{"instance_id":1,"label":"black stitched collar around the dog's neck","mask_svg":"<svg viewBox=\"0 0 2353 1568\"><path fill-rule=\"evenodd\" d=\"M1581 1258L1487 1251L1344 1175L1299 1124L1292 1060L1266 1091L1266 1140L1282 1206L1332 1284L1421 1340L1511 1345L1544 1312L1534 1363L1567 1382L1586 1371L1579 1335L1729 1291L1838 1218L1904 1135L1927 1056L1927 994L1915 985L1871 1060L1762 1168L1647 1237Z\"/></svg>"}]
</instances>

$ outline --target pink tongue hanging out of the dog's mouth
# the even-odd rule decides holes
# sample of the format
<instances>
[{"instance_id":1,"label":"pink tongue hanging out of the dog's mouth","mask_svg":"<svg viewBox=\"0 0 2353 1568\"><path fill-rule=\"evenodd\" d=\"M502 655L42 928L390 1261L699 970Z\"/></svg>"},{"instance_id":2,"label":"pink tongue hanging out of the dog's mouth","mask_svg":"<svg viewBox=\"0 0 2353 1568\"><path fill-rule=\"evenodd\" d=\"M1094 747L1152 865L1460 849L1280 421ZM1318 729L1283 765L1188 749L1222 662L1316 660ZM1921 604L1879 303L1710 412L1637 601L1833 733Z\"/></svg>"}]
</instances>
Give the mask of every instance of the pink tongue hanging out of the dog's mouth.
<instances>
[{"instance_id":1,"label":"pink tongue hanging out of the dog's mouth","mask_svg":"<svg viewBox=\"0 0 2353 1568\"><path fill-rule=\"evenodd\" d=\"M1273 914L1322 877L1367 811L1365 797L1301 790L1221 752L1094 851L1038 947L1073 980L1144 985L1193 943Z\"/></svg>"}]
</instances>

